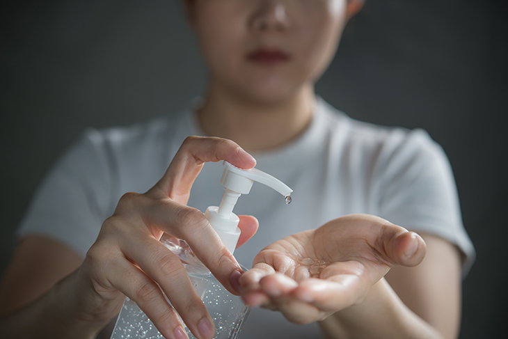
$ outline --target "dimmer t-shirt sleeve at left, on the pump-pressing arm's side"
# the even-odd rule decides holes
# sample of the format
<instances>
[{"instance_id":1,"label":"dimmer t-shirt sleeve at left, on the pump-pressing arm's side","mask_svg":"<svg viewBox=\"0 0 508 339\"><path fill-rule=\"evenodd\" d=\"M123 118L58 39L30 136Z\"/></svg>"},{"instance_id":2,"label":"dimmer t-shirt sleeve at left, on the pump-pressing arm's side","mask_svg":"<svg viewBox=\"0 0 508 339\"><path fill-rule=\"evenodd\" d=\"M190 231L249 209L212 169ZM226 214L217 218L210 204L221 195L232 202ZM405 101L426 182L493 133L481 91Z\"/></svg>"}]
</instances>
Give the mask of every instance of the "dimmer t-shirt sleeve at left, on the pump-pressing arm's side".
<instances>
[{"instance_id":1,"label":"dimmer t-shirt sleeve at left, on the pump-pressing arm's side","mask_svg":"<svg viewBox=\"0 0 508 339\"><path fill-rule=\"evenodd\" d=\"M102 134L87 129L38 187L16 236L49 237L84 257L114 208L113 167Z\"/></svg>"}]
</instances>

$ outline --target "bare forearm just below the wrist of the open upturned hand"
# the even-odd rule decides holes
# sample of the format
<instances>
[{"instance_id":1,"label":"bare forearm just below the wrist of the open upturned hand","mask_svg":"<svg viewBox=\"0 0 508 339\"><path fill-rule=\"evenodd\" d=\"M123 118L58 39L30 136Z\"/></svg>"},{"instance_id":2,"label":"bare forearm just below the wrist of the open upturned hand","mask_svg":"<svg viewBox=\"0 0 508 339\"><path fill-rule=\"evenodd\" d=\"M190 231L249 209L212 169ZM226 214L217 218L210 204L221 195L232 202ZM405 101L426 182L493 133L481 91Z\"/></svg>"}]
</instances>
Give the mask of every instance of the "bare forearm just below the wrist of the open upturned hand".
<instances>
[{"instance_id":1,"label":"bare forearm just below the wrist of the open upturned hand","mask_svg":"<svg viewBox=\"0 0 508 339\"><path fill-rule=\"evenodd\" d=\"M415 315L383 278L362 303L319 322L327 338L442 339L431 325Z\"/></svg>"}]
</instances>

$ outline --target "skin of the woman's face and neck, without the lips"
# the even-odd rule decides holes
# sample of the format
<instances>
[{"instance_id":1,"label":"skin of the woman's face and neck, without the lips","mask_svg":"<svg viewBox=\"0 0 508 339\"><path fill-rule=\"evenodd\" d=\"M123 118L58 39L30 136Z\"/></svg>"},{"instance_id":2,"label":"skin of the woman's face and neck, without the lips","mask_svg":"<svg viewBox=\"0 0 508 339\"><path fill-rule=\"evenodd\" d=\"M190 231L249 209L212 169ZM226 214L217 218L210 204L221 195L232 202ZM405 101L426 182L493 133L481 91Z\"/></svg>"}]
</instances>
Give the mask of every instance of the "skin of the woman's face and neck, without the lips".
<instances>
[{"instance_id":1,"label":"skin of the woman's face and neck, without the lips","mask_svg":"<svg viewBox=\"0 0 508 339\"><path fill-rule=\"evenodd\" d=\"M312 120L314 83L337 49L360 1L186 1L211 78L200 123L209 135L248 151L277 148ZM279 65L258 65L249 52L276 47ZM260 138L260 133L263 138Z\"/></svg>"}]
</instances>

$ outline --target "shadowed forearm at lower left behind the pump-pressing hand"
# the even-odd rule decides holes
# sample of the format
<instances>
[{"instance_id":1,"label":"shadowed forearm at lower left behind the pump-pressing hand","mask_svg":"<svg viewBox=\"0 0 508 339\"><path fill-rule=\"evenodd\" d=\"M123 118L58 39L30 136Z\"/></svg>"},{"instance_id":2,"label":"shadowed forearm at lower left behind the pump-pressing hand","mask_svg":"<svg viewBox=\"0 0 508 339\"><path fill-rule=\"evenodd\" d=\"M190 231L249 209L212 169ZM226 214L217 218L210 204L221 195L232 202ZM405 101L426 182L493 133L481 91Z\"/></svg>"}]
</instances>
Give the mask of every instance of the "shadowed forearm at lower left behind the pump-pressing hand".
<instances>
[{"instance_id":1,"label":"shadowed forearm at lower left behind the pump-pressing hand","mask_svg":"<svg viewBox=\"0 0 508 339\"><path fill-rule=\"evenodd\" d=\"M68 276L39 299L1 317L6 338L95 338L106 322L80 320L72 307Z\"/></svg>"}]
</instances>

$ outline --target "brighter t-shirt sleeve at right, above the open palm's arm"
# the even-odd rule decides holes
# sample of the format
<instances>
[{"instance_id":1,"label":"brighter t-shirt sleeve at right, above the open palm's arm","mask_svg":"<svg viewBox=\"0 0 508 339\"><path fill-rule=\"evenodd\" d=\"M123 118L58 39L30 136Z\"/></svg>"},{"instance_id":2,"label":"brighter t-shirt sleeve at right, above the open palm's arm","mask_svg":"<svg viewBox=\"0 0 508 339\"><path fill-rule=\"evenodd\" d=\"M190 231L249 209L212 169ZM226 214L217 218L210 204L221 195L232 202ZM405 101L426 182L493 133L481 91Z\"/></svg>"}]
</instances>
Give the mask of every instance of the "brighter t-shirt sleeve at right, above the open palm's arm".
<instances>
[{"instance_id":1,"label":"brighter t-shirt sleeve at right, above the open palm's arm","mask_svg":"<svg viewBox=\"0 0 508 339\"><path fill-rule=\"evenodd\" d=\"M462 251L463 274L475 258L463 227L457 187L443 149L421 129L395 133L383 171L380 216L415 232L443 237Z\"/></svg>"}]
</instances>

